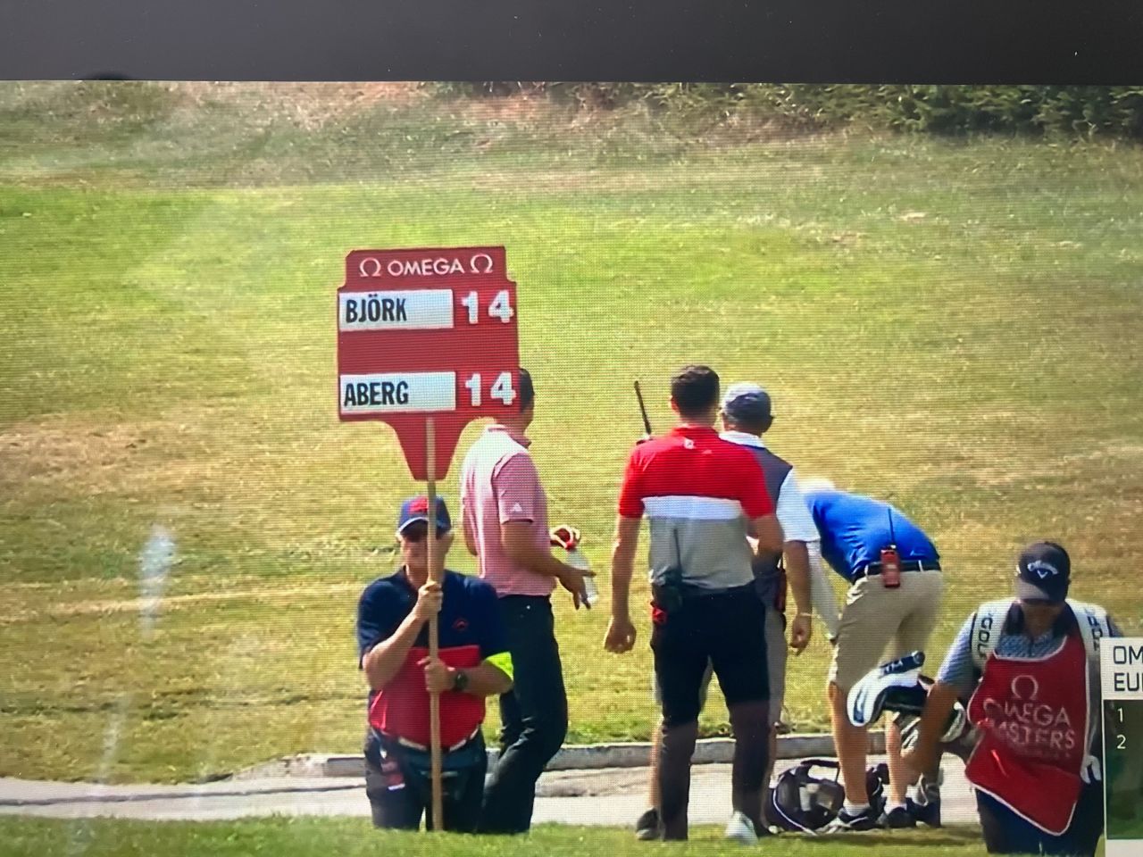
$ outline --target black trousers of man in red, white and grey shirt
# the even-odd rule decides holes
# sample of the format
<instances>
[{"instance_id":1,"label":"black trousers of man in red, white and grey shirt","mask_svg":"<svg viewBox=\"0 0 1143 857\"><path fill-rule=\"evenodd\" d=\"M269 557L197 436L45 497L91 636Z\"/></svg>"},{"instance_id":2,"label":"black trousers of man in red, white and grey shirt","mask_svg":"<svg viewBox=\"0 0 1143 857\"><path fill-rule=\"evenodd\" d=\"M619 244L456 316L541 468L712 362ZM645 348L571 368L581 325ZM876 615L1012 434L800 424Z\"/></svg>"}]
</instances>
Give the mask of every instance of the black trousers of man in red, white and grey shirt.
<instances>
[{"instance_id":1,"label":"black trousers of man in red, white and grey shirt","mask_svg":"<svg viewBox=\"0 0 1143 857\"><path fill-rule=\"evenodd\" d=\"M698 737L708 662L722 688L734 730L732 803L758 826L770 731L766 606L750 584L687 598L670 615L656 616L650 647L663 707L658 767L663 836L687 838L690 758Z\"/></svg>"}]
</instances>

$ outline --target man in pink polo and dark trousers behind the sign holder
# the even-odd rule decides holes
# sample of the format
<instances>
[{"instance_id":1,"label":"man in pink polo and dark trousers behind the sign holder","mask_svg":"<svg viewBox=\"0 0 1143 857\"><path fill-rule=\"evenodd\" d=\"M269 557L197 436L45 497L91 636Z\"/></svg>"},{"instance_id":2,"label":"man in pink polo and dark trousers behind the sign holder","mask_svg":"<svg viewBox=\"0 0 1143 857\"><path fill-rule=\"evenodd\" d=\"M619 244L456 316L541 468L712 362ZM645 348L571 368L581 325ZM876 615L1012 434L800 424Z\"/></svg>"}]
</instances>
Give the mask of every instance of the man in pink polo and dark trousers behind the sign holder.
<instances>
[{"instance_id":1,"label":"man in pink polo and dark trousers behind the sign holder","mask_svg":"<svg viewBox=\"0 0 1143 857\"><path fill-rule=\"evenodd\" d=\"M558 582L578 608L584 575L591 574L552 555L547 499L525 435L535 413L525 369L519 389L520 413L488 426L461 468L464 542L499 596L515 682L499 698L501 756L485 790L485 833L525 833L531 826L536 780L568 728L551 594Z\"/></svg>"}]
</instances>

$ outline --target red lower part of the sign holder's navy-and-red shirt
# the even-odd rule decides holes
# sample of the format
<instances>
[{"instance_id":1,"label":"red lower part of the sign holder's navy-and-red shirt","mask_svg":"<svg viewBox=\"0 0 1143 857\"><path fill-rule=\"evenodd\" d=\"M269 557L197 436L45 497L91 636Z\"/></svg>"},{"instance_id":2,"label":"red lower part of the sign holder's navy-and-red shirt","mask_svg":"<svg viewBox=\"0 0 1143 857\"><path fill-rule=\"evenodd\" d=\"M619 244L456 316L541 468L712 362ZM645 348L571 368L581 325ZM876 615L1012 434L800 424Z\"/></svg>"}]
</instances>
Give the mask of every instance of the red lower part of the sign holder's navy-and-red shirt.
<instances>
[{"instance_id":1,"label":"red lower part of the sign holder's navy-and-red shirt","mask_svg":"<svg viewBox=\"0 0 1143 857\"><path fill-rule=\"evenodd\" d=\"M369 724L385 735L405 738L423 747L431 743L429 728L429 691L425 670L417 663L429 657L429 649L414 647L400 671L369 706ZM458 646L440 649L440 659L461 668L480 664L480 648ZM485 719L485 700L457 690L440 695L440 744L448 748L475 731Z\"/></svg>"}]
</instances>

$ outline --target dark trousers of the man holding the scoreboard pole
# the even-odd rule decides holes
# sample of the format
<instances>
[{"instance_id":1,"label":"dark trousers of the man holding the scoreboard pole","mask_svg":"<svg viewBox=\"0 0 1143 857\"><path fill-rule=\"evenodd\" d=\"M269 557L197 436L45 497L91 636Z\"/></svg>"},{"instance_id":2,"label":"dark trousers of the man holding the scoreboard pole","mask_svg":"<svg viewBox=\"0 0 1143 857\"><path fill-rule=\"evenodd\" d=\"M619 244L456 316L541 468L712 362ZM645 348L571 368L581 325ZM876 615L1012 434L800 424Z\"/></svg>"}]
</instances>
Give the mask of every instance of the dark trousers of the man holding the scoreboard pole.
<instances>
[{"instance_id":1,"label":"dark trousers of the man holding the scoreboard pole","mask_svg":"<svg viewBox=\"0 0 1143 857\"><path fill-rule=\"evenodd\" d=\"M425 754L414 760L407 748L370 729L365 740L365 793L369 798L375 827L415 831L432 830L432 782ZM383 768L397 763L400 786L391 788ZM443 827L454 833L475 833L480 800L488 769L485 739L480 732L464 747L446 753L441 777Z\"/></svg>"}]
</instances>

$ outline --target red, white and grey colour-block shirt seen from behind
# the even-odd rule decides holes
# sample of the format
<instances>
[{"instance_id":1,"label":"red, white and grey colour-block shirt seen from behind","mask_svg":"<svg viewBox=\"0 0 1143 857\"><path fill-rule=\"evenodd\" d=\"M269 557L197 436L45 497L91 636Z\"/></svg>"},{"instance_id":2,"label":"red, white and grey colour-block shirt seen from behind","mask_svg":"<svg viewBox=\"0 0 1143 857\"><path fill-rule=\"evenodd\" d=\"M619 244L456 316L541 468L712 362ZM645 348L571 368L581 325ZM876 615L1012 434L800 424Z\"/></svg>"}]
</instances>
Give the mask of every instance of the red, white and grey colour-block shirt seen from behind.
<instances>
[{"instance_id":1,"label":"red, white and grey colour-block shirt seen from behind","mask_svg":"<svg viewBox=\"0 0 1143 857\"><path fill-rule=\"evenodd\" d=\"M678 566L686 583L709 590L754 579L746 520L774 513L753 454L694 425L631 451L618 506L624 518L647 515L653 583Z\"/></svg>"}]
</instances>

